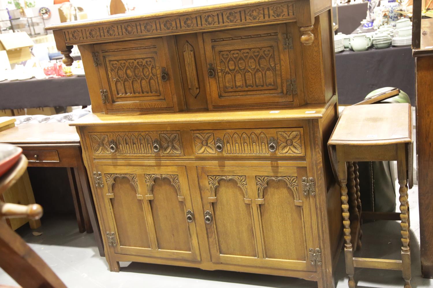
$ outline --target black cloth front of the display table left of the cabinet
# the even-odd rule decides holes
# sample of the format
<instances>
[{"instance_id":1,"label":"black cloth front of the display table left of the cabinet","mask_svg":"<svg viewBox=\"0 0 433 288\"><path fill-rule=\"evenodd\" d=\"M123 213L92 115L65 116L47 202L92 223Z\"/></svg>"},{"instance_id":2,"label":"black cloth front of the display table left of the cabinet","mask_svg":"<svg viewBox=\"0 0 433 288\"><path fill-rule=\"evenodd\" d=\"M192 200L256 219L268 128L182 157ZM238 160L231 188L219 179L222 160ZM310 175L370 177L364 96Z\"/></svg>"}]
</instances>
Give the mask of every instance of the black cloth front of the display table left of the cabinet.
<instances>
[{"instance_id":1,"label":"black cloth front of the display table left of the cabinet","mask_svg":"<svg viewBox=\"0 0 433 288\"><path fill-rule=\"evenodd\" d=\"M85 77L6 80L0 91L0 110L90 105Z\"/></svg>"}]
</instances>

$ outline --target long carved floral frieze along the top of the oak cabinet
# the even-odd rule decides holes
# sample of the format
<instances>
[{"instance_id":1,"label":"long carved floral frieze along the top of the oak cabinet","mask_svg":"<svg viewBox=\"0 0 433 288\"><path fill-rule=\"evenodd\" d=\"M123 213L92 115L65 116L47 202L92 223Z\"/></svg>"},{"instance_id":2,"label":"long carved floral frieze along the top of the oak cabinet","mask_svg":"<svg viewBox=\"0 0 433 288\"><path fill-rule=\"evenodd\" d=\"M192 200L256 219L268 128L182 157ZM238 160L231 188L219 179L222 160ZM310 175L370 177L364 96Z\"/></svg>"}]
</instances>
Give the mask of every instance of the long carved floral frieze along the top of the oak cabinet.
<instances>
[{"instance_id":1,"label":"long carved floral frieze along the top of the oak cabinet","mask_svg":"<svg viewBox=\"0 0 433 288\"><path fill-rule=\"evenodd\" d=\"M281 4L263 3L256 6L237 6L232 9L214 9L184 13L180 16L155 17L113 24L63 30L66 44L90 42L98 39L122 39L137 35L167 35L173 32L206 30L218 27L240 27L247 24L269 23L295 19L295 1Z\"/></svg>"}]
</instances>

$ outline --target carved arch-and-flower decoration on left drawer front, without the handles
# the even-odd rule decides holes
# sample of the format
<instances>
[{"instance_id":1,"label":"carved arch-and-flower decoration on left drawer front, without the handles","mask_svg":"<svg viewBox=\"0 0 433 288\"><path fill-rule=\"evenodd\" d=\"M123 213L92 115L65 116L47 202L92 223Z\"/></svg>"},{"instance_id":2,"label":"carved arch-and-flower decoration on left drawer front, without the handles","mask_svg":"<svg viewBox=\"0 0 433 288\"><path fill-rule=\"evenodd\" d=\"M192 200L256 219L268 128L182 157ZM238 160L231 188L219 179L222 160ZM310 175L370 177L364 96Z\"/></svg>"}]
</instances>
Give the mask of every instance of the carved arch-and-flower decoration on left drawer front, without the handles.
<instances>
[{"instance_id":1,"label":"carved arch-and-flower decoration on left drawer front, without the handles","mask_svg":"<svg viewBox=\"0 0 433 288\"><path fill-rule=\"evenodd\" d=\"M109 139L116 143L116 154L153 155L153 140L161 142L161 152L165 155L182 155L180 131L142 131L142 132L108 132L104 135L91 134L90 139L94 154L109 154ZM100 145L103 145L102 147ZM108 151L108 152L107 152Z\"/></svg>"}]
</instances>

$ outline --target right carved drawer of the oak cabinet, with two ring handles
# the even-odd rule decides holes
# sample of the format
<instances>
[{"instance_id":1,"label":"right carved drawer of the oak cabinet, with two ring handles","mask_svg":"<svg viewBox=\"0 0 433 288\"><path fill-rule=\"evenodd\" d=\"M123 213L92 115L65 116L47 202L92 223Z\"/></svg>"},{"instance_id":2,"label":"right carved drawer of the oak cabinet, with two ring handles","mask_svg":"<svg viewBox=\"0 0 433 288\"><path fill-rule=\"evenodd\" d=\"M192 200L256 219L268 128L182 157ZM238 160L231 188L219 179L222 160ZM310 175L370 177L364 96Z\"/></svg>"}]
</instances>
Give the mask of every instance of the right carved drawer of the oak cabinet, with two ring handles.
<instances>
[{"instance_id":1,"label":"right carved drawer of the oak cabinet, with two ring handles","mask_svg":"<svg viewBox=\"0 0 433 288\"><path fill-rule=\"evenodd\" d=\"M302 127L193 130L191 134L196 156L305 157Z\"/></svg>"}]
</instances>

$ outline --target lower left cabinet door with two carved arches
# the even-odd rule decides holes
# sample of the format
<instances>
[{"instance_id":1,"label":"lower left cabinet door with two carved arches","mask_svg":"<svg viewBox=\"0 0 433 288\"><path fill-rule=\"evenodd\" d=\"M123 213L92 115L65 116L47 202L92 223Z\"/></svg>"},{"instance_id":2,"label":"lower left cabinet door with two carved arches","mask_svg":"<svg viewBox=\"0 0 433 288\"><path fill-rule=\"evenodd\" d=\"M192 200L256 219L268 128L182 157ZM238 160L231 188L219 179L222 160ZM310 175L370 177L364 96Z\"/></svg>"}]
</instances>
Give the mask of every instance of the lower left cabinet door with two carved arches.
<instances>
[{"instance_id":1,"label":"lower left cabinet door with two carved arches","mask_svg":"<svg viewBox=\"0 0 433 288\"><path fill-rule=\"evenodd\" d=\"M97 171L115 253L199 260L184 167L99 165Z\"/></svg>"}]
</instances>

